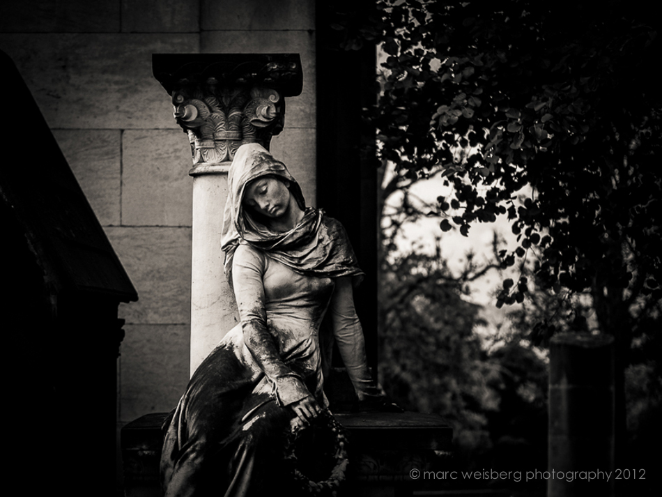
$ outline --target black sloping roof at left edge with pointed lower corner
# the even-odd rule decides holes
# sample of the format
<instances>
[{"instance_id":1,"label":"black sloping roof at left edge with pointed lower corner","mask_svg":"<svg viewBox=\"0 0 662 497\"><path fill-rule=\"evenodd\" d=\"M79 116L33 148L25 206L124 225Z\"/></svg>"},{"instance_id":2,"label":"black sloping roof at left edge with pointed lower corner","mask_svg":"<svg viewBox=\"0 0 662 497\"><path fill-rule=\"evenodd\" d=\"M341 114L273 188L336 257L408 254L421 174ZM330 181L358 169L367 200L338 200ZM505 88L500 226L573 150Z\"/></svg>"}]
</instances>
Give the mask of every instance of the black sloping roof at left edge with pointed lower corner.
<instances>
[{"instance_id":1,"label":"black sloping roof at left edge with pointed lower corner","mask_svg":"<svg viewBox=\"0 0 662 497\"><path fill-rule=\"evenodd\" d=\"M0 74L6 112L0 120L0 201L22 224L46 277L59 290L138 300L38 105L2 51Z\"/></svg>"}]
</instances>

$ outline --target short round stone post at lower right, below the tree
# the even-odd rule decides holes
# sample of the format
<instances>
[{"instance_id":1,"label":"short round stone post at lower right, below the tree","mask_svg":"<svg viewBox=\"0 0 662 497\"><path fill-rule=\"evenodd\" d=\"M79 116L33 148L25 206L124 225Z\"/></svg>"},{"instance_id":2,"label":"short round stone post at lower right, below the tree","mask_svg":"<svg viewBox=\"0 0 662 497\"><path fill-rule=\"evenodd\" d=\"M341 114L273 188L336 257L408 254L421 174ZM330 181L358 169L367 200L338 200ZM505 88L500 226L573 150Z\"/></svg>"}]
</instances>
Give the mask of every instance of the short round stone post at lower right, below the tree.
<instances>
[{"instance_id":1,"label":"short round stone post at lower right, below the tree","mask_svg":"<svg viewBox=\"0 0 662 497\"><path fill-rule=\"evenodd\" d=\"M551 339L549 497L614 494L613 342L571 333Z\"/></svg>"}]
</instances>

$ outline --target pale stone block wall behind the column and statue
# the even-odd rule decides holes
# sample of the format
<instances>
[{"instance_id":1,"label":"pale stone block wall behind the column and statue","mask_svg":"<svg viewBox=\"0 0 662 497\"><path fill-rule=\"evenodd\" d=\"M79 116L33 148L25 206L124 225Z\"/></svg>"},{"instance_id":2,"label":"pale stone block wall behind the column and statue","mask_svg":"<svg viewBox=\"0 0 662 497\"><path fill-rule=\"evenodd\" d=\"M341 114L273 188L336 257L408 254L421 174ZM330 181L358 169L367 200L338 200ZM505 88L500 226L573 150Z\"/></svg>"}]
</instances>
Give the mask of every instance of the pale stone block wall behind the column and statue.
<instances>
[{"instance_id":1,"label":"pale stone block wall behind the column and statue","mask_svg":"<svg viewBox=\"0 0 662 497\"><path fill-rule=\"evenodd\" d=\"M0 49L26 80L139 294L119 311L118 427L169 411L190 373L192 161L151 55L299 53L303 92L287 101L272 152L315 205L314 1L6 1ZM45 160L29 139L29 116L18 121L21 162Z\"/></svg>"}]
</instances>

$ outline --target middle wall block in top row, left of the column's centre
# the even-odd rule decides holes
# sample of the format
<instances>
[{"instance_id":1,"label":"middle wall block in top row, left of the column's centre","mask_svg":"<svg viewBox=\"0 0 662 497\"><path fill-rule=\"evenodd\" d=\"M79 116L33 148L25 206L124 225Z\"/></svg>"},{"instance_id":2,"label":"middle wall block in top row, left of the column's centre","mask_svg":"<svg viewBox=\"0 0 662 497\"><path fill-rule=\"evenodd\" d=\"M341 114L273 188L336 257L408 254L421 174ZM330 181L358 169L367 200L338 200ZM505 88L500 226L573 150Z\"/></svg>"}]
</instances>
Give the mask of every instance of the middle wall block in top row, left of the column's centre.
<instances>
[{"instance_id":1,"label":"middle wall block in top row, left of the column's centre","mask_svg":"<svg viewBox=\"0 0 662 497\"><path fill-rule=\"evenodd\" d=\"M122 31L125 33L199 31L199 4L200 0L123 0Z\"/></svg>"}]
</instances>

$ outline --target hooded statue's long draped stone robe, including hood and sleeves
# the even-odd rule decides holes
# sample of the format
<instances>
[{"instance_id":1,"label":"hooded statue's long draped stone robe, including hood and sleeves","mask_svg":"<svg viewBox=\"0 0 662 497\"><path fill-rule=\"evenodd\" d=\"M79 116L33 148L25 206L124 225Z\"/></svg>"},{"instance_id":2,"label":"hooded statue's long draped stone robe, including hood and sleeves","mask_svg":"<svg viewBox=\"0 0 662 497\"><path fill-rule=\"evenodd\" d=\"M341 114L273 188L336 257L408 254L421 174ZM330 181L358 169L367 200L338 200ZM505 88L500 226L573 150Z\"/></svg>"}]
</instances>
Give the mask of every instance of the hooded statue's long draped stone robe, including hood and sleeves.
<instances>
[{"instance_id":1,"label":"hooded statue's long draped stone robe, including hood and sleeves","mask_svg":"<svg viewBox=\"0 0 662 497\"><path fill-rule=\"evenodd\" d=\"M245 186L265 174L286 179L305 209L291 231L270 231L243 209ZM225 215L226 273L240 323L194 372L171 416L161 461L167 497L288 491L288 406L309 395L328 406L319 335L328 311L357 395L383 395L367 369L351 296L350 281L363 273L341 224L305 208L294 178L256 144L236 155Z\"/></svg>"}]
</instances>

